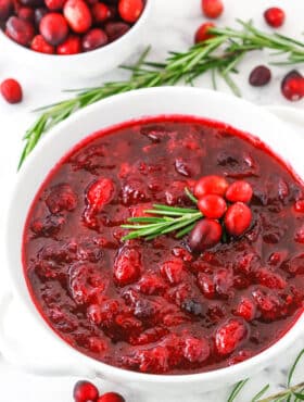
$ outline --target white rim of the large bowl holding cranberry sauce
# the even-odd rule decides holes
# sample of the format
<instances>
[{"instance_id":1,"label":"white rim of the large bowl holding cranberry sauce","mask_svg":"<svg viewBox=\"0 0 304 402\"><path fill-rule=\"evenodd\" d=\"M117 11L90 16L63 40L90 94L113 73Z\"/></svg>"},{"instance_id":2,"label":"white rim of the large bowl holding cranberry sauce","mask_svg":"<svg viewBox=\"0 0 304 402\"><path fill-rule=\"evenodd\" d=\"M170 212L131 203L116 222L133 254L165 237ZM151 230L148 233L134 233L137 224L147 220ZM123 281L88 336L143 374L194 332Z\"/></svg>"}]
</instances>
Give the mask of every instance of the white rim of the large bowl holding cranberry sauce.
<instances>
[{"instance_id":1,"label":"white rim of the large bowl holding cranberry sauce","mask_svg":"<svg viewBox=\"0 0 304 402\"><path fill-rule=\"evenodd\" d=\"M243 99L238 99L238 98L235 98L230 95L223 93L223 92L216 92L216 91L208 90L208 89L191 88L191 87L182 87L182 86L138 89L138 90L134 90L131 92L121 93L118 96L111 97L111 98L104 99L102 101L99 101L94 104L91 104L88 108L85 108L85 109L80 110L79 112L77 112L76 114L71 116L68 120L66 120L66 121L62 122L61 124L59 124L58 126L53 127L48 133L48 136L43 139L43 141L41 141L38 145L38 147L35 148L35 150L31 152L31 155L25 161L22 171L18 173L18 176L16 177L16 180L15 180L15 184L14 184L14 187L13 187L13 191L12 191L11 198L10 198L11 202L10 202L10 206L9 206L9 212L7 214L8 221L7 221L7 224L5 224L5 228L7 228L7 236L5 236L7 247L5 247L5 249L7 249L8 254L9 254L9 250L10 250L10 247L9 247L10 236L9 236L9 225L8 224L9 224L9 216L13 213L12 203L13 203L13 200L15 200L17 193L18 193L18 187L20 187L20 184L24 180L24 177L26 177L30 171L36 168L35 167L36 166L36 155L40 152L41 148L46 149L46 148L50 147L50 145L56 139L56 137L63 130L68 128L69 125L72 125L72 124L75 125L76 123L80 123L84 118L86 118L86 116L88 114L97 113L100 109L103 108L104 104L111 105L111 104L116 103L116 102L117 103L125 102L125 101L128 101L130 97L139 97L140 98L142 96L144 97L148 93L154 93L157 97L162 97L162 96L166 96L168 93L172 93L172 95L178 97L178 96L181 96L185 92L188 92L187 93L188 96L191 96L191 93L195 93L195 95L200 93L201 96L205 96L205 97L214 97L215 99L218 99L219 101L220 100L224 100L226 102L229 101L229 102L232 102L237 105L238 104L239 105L243 104L243 105L246 105L246 108L252 108L256 111L261 111L261 113L264 114L264 115L268 115L268 120L271 118L271 121L276 122L277 125L278 124L283 125L283 123L278 117L274 116L267 110L263 110L263 108L261 108L258 105L255 105L255 104L253 104L249 101L245 101ZM179 113L179 114L181 115L181 113ZM151 115L153 115L153 114L151 114ZM173 115L176 115L176 113L173 113ZM192 115L195 115L195 114L192 114ZM238 127L236 127L236 128L238 128ZM288 129L288 130L292 131L291 129ZM90 135L91 134L85 135L83 137L83 139L90 136ZM78 142L79 142L79 140L74 141L72 146L68 146L68 149L71 150ZM264 142L264 140L262 140L262 142ZM304 143L304 138L303 138L303 143ZM267 142L266 142L266 146L267 146ZM270 149L271 149L271 147L270 147ZM277 153L277 152L275 152L275 153ZM279 156L282 159L283 162L286 162L284 159L281 155L279 155ZM58 160L60 160L60 159L58 159ZM299 176L299 175L296 175L296 176ZM9 267L11 265L9 255L7 255L7 261L8 261L8 267ZM11 271L11 269L9 269L9 271ZM24 297L21 294L22 292L18 291L18 284L16 282L12 273L10 273L10 277L12 279L12 284L13 284L13 288L15 290L15 293L24 302ZM23 276L23 279L25 281L24 276ZM25 284L25 287L27 288L26 284ZM278 341L274 342L271 346L269 346L268 348L266 348L265 350L263 350L258 354L254 355L253 357L250 357L250 359L248 359L248 360L245 360L241 363L238 363L236 365L232 365L232 366L227 366L227 367L223 367L223 368L218 368L218 369L214 369L214 370L210 370L210 372L202 372L202 373L195 373L195 374L181 374L181 375L144 374L144 373L132 372L132 370L128 370L128 369L125 369L125 368L119 368L119 367L116 367L116 366L105 364L103 362L100 362L100 361L98 361L93 357L90 357L90 356L79 352L77 349L74 349L66 341L62 340L61 337L59 336L59 334L56 334L49 326L49 324L43 319L43 317L41 316L39 311L37 311L36 306L34 305L34 302L33 302L33 300L29 296L29 290L28 289L26 289L26 290L27 290L27 297L28 297L27 299L30 299L30 304L31 304L30 306L27 305L27 307L28 307L27 310L30 311L31 315L35 316L37 324L39 324L41 326L41 323L45 323L43 329L47 330L49 334L53 335L52 338L53 338L54 341L58 342L58 346L61 344L63 347L67 347L65 349L71 350L71 359L72 360L78 360L78 361L81 360L84 362L84 364L86 364L87 366L93 366L97 369L98 373L107 373L109 376L111 375L113 377L117 377L122 380L128 380L128 381L154 382L154 384L180 384L182 381L182 382L189 384L189 382L200 382L200 381L201 382L202 381L203 382L212 382L214 380L219 380L219 379L223 379L223 381L225 381L227 378L236 376L237 374L240 375L240 376L243 376L242 373L250 372L251 368L254 368L258 365L261 367L264 367L265 365L267 365L267 362L271 361L271 359L274 359L278 354L280 354L280 352L282 352L289 346L291 346L292 342L294 342L299 338L299 335L301 334L301 330L302 330L303 325L304 325L304 311L303 311L299 314L297 319L292 324L292 326L290 328L287 329L286 334L282 335L282 337ZM28 300L26 300L26 302L28 302ZM35 314L34 314L34 312L35 312ZM73 356L72 356L72 354L73 354Z\"/></svg>"}]
</instances>

